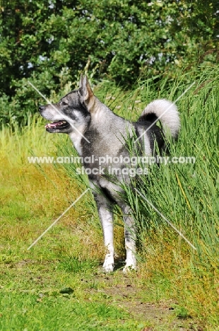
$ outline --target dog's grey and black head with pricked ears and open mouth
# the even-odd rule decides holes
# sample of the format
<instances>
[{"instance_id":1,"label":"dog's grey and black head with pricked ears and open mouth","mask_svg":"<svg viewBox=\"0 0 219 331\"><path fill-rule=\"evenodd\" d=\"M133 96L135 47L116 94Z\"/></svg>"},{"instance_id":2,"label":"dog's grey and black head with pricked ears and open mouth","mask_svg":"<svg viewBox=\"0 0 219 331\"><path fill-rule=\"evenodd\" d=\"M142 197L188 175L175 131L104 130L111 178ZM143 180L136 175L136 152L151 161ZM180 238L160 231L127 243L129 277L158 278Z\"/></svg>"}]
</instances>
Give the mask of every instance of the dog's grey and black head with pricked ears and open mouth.
<instances>
[{"instance_id":1,"label":"dog's grey and black head with pricked ears and open mouth","mask_svg":"<svg viewBox=\"0 0 219 331\"><path fill-rule=\"evenodd\" d=\"M90 122L93 98L95 97L88 78L81 75L78 90L66 94L58 103L40 105L42 117L53 121L45 126L47 132L69 134L74 131L74 128L81 131Z\"/></svg>"}]
</instances>

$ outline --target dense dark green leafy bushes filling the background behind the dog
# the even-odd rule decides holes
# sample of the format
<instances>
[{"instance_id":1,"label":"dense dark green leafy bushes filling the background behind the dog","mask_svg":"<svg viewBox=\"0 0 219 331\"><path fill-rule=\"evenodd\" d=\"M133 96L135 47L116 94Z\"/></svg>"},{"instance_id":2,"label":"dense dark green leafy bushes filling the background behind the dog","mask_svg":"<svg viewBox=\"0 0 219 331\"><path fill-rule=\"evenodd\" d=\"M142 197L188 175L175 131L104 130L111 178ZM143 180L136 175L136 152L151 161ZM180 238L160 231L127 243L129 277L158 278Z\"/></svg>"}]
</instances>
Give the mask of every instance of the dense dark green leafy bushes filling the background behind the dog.
<instances>
[{"instance_id":1,"label":"dense dark green leafy bushes filling the background behind the dog","mask_svg":"<svg viewBox=\"0 0 219 331\"><path fill-rule=\"evenodd\" d=\"M26 121L40 91L73 88L85 69L123 86L217 60L217 1L3 1L0 7L1 122ZM4 96L6 95L6 96ZM3 104L2 104L2 102Z\"/></svg>"}]
</instances>

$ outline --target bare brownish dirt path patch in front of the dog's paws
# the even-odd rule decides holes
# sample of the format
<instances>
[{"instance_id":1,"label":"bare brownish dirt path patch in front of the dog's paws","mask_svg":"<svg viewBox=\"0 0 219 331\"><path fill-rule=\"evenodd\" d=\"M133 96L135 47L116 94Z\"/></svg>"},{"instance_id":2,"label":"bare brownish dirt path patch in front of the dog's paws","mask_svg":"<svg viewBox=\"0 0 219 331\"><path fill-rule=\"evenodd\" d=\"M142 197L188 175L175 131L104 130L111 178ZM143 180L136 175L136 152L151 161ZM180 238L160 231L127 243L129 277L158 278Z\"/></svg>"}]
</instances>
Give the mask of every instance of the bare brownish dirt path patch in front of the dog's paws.
<instances>
[{"instance_id":1,"label":"bare brownish dirt path patch in front of the dog's paws","mask_svg":"<svg viewBox=\"0 0 219 331\"><path fill-rule=\"evenodd\" d=\"M170 300L153 303L144 300L143 289L138 289L129 277L123 277L122 285L114 284L113 275L98 275L97 278L105 283L104 289L98 291L129 312L135 320L148 324L143 331L203 331L191 317L177 317L176 302Z\"/></svg>"}]
</instances>

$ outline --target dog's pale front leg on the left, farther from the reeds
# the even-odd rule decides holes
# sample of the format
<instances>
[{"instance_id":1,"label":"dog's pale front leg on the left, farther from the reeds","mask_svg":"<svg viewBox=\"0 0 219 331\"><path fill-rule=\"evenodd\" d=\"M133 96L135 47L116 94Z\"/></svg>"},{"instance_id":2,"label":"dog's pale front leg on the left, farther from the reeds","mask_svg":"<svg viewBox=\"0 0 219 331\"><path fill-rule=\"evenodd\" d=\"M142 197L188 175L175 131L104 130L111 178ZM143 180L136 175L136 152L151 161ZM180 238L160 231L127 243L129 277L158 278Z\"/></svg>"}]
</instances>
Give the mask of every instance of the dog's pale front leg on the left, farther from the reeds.
<instances>
[{"instance_id":1,"label":"dog's pale front leg on the left, farther from the reeds","mask_svg":"<svg viewBox=\"0 0 219 331\"><path fill-rule=\"evenodd\" d=\"M109 205L97 202L106 249L105 262L102 266L105 272L113 272L114 269L113 216L109 208Z\"/></svg>"}]
</instances>

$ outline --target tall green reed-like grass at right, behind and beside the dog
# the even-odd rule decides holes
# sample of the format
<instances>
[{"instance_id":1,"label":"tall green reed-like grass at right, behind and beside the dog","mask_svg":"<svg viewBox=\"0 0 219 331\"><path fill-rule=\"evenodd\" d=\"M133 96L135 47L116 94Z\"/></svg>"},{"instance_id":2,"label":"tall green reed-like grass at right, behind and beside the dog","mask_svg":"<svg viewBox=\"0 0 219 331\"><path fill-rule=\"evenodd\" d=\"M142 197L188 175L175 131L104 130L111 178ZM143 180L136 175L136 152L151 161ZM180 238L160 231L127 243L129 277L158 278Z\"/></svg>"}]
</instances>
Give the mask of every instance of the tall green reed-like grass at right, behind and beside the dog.
<instances>
[{"instance_id":1,"label":"tall green reed-like grass at right, behind and beside the dog","mask_svg":"<svg viewBox=\"0 0 219 331\"><path fill-rule=\"evenodd\" d=\"M196 162L167 165L160 163L159 167L149 165L148 176L140 179L140 190L194 243L197 252L191 249L191 256L199 258L208 267L215 268L219 257L218 69L205 68L199 80L196 77L194 80L194 87L177 103L182 123L179 139L177 143L168 141L168 145L170 157L193 156ZM192 82L191 80L189 83ZM166 81L158 95L154 95L155 98L174 100L187 88L179 80L173 83L172 90L169 91L165 88L165 83ZM143 238L148 233L145 230L149 222L157 227L162 223L162 228L169 228L172 232L171 240L178 237L167 222L146 201L138 197L136 192L128 187L124 187L124 190L136 219L141 224Z\"/></svg>"}]
</instances>

